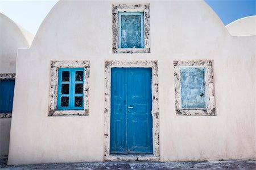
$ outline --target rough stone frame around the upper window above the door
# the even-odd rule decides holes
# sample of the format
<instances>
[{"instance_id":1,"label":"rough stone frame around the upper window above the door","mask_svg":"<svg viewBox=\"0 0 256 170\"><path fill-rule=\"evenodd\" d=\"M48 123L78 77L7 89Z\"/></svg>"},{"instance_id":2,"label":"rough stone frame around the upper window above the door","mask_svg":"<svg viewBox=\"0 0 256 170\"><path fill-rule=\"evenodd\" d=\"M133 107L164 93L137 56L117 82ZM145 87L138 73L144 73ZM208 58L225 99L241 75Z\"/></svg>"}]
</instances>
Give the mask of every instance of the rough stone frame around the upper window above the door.
<instances>
[{"instance_id":1,"label":"rough stone frame around the upper window above the door","mask_svg":"<svg viewBox=\"0 0 256 170\"><path fill-rule=\"evenodd\" d=\"M112 52L113 53L150 53L150 5L114 4L112 5ZM144 48L118 48L118 12L144 13Z\"/></svg>"}]
</instances>

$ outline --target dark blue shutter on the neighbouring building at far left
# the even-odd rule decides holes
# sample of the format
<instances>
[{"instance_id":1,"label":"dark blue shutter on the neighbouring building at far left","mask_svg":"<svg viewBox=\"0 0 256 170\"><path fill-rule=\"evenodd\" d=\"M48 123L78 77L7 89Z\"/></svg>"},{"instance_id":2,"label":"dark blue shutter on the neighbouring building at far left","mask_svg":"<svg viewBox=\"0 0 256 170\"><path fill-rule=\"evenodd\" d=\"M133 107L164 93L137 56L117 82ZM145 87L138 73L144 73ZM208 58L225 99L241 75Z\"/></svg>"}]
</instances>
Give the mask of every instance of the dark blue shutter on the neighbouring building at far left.
<instances>
[{"instance_id":1,"label":"dark blue shutter on the neighbouring building at far left","mask_svg":"<svg viewBox=\"0 0 256 170\"><path fill-rule=\"evenodd\" d=\"M13 111L13 94L15 80L0 81L0 113Z\"/></svg>"}]
</instances>

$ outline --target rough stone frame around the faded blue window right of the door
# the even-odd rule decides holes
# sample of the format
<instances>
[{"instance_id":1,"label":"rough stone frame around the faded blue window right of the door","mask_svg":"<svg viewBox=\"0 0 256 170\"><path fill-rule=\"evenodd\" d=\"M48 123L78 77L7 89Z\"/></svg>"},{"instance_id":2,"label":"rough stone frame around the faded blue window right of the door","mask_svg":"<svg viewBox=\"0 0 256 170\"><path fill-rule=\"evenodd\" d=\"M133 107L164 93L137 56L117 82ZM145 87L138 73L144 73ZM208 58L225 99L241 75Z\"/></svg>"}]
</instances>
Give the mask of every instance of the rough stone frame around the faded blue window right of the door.
<instances>
[{"instance_id":1,"label":"rough stone frame around the faded blue window right of the door","mask_svg":"<svg viewBox=\"0 0 256 170\"><path fill-rule=\"evenodd\" d=\"M182 108L180 68L195 67L204 68L205 104L206 108ZM176 115L216 115L214 96L213 60L175 60L174 61L174 86L175 86L175 109Z\"/></svg>"}]
</instances>

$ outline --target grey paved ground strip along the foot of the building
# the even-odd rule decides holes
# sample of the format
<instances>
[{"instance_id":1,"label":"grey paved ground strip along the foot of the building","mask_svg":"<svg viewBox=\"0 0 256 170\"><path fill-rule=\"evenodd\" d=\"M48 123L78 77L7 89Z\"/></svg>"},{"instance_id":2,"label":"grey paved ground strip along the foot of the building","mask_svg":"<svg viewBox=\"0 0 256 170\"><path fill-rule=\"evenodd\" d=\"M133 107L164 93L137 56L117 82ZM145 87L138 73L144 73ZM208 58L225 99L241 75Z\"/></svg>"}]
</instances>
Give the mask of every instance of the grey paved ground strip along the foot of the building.
<instances>
[{"instance_id":1,"label":"grey paved ground strip along the foot of the building","mask_svg":"<svg viewBox=\"0 0 256 170\"><path fill-rule=\"evenodd\" d=\"M255 160L212 160L212 161L107 161L61 164L35 164L24 166L6 165L7 157L1 157L0 169L256 169Z\"/></svg>"}]
</instances>

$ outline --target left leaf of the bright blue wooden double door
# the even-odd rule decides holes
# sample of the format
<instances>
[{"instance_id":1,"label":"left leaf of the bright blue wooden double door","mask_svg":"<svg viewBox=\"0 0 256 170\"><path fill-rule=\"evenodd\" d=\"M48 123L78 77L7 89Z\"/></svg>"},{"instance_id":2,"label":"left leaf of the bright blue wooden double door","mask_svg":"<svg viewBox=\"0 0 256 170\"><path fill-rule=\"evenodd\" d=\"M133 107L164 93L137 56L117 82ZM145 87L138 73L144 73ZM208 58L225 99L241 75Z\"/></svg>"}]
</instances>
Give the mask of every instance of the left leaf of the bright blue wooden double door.
<instances>
[{"instance_id":1,"label":"left leaf of the bright blue wooden double door","mask_svg":"<svg viewBox=\"0 0 256 170\"><path fill-rule=\"evenodd\" d=\"M111 76L110 151L126 154L126 69L113 68Z\"/></svg>"}]
</instances>

